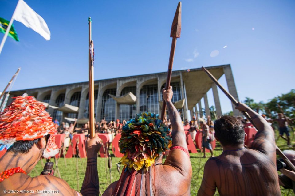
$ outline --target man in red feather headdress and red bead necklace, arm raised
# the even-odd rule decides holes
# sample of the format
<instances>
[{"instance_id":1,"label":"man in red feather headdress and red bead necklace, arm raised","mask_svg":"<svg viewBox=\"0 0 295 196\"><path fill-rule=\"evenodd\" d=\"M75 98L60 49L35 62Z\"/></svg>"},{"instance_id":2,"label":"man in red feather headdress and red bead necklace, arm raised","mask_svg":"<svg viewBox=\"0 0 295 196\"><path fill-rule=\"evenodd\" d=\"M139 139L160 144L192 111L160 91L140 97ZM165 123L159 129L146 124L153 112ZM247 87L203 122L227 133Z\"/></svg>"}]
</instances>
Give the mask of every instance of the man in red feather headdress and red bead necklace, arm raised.
<instances>
[{"instance_id":1,"label":"man in red feather headdress and red bead necklace, arm raised","mask_svg":"<svg viewBox=\"0 0 295 196\"><path fill-rule=\"evenodd\" d=\"M19 107L16 107L18 104ZM32 134L29 132L30 130L33 130ZM13 138L9 138L10 136L8 135L10 134L7 133L10 133ZM60 178L50 175L36 177L27 175L42 156L48 158L58 153L59 149L57 149L54 143L55 133L55 126L49 114L45 111L45 106L42 106L32 96L27 96L26 94L18 96L0 114L0 149L7 149L7 152L0 158L1 195L6 193L5 191L8 194L8 190L18 191L18 194L12 195L99 194L96 161L101 140L97 135L87 141L87 167L81 193L73 190L68 183ZM34 137L37 135L41 137L35 139ZM20 139L21 137L23 137L22 140ZM15 141L16 139L17 141ZM3 177L5 171L6 175Z\"/></svg>"}]
</instances>

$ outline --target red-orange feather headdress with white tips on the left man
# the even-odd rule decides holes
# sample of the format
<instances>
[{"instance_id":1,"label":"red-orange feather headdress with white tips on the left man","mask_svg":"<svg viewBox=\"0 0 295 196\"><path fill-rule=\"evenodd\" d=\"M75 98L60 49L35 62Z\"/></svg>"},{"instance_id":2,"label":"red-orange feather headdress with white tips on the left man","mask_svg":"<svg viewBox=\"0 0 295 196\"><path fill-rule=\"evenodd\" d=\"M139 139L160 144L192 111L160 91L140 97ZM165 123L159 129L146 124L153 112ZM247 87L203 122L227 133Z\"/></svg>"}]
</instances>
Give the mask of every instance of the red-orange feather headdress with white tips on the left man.
<instances>
[{"instance_id":1,"label":"red-orange feather headdress with white tips on the left man","mask_svg":"<svg viewBox=\"0 0 295 196\"><path fill-rule=\"evenodd\" d=\"M57 130L45 106L33 96L23 94L0 113L0 150L9 149L16 141L35 140L50 134L43 156L56 155Z\"/></svg>"}]
</instances>

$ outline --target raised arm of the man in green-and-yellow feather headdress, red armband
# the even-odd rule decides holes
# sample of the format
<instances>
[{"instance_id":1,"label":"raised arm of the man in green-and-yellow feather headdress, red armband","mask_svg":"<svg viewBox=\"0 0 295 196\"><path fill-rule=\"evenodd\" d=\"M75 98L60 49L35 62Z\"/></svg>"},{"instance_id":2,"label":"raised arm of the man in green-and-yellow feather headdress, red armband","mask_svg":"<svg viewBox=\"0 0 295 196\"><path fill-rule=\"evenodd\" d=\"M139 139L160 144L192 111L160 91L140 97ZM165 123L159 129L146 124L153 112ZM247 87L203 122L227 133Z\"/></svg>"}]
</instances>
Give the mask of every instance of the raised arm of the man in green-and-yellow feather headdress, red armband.
<instances>
[{"instance_id":1,"label":"raised arm of the man in green-and-yellow feather headdress, red armband","mask_svg":"<svg viewBox=\"0 0 295 196\"><path fill-rule=\"evenodd\" d=\"M180 146L184 150L187 150L187 140L183 128L183 124L177 109L171 102L173 96L172 87L169 89L163 89L163 99L166 101L167 109L169 112L169 119L172 126L172 144L173 147ZM187 179L191 179L191 161L187 153L181 149L173 149L167 156L165 165L171 165L176 168L180 173L187 175Z\"/></svg>"}]
</instances>

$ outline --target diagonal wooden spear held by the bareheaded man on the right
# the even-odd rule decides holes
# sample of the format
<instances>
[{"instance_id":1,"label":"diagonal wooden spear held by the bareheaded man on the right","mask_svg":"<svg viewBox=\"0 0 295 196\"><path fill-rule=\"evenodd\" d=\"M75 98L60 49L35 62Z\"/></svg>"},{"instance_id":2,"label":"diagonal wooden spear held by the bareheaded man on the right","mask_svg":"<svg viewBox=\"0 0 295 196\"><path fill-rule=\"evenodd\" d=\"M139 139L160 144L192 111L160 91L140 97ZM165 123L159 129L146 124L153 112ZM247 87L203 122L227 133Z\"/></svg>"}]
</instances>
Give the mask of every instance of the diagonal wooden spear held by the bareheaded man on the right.
<instances>
[{"instance_id":1,"label":"diagonal wooden spear held by the bareheaded man on the right","mask_svg":"<svg viewBox=\"0 0 295 196\"><path fill-rule=\"evenodd\" d=\"M202 67L202 70L206 72L206 74L211 78L211 80L224 92L224 94L233 102L235 105L238 104L238 101L229 93L226 91L226 89L216 80L216 78L205 68ZM242 113L245 115L245 117L254 125L250 115L247 112L242 111ZM255 126L255 125L254 125ZM256 128L257 129L257 128ZM257 129L258 130L258 129ZM282 157L282 159L285 161L285 163L293 170L295 171L295 166L291 163L291 161L283 154L281 149L276 146L277 153L279 156Z\"/></svg>"}]
</instances>

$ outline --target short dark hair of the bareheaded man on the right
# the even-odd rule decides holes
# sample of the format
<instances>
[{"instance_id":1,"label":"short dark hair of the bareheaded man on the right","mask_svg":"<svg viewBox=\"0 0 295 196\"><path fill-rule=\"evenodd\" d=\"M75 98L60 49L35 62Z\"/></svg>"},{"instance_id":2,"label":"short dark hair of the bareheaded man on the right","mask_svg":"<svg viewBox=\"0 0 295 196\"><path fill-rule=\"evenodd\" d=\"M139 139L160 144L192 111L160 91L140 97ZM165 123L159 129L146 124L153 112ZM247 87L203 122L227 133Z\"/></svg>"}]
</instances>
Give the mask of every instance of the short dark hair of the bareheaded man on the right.
<instances>
[{"instance_id":1,"label":"short dark hair of the bareheaded man on the right","mask_svg":"<svg viewBox=\"0 0 295 196\"><path fill-rule=\"evenodd\" d=\"M216 138L224 146L243 144L245 130L242 122L232 116L224 115L214 123Z\"/></svg>"}]
</instances>

